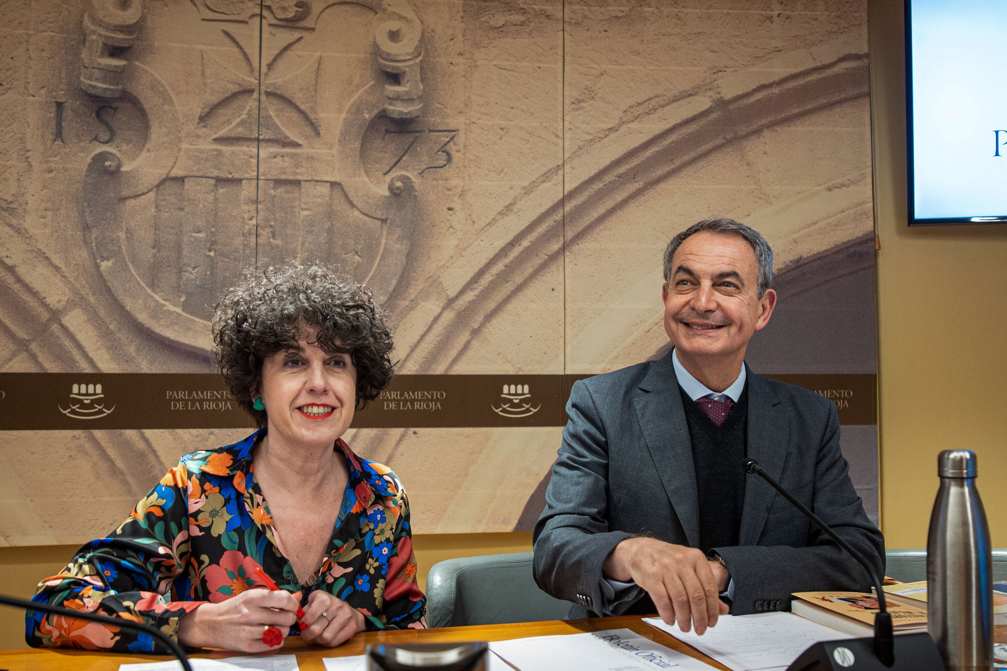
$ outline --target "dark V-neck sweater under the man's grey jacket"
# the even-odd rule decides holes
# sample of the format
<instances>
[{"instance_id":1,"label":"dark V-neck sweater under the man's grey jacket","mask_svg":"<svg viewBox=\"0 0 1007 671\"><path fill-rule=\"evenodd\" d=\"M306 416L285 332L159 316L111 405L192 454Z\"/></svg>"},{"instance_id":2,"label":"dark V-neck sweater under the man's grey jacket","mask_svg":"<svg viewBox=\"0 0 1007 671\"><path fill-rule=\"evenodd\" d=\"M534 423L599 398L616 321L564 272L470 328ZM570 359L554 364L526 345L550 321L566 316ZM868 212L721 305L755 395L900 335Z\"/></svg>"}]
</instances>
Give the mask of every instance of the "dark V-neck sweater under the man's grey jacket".
<instances>
[{"instance_id":1,"label":"dark V-neck sweater under the man's grey jacket","mask_svg":"<svg viewBox=\"0 0 1007 671\"><path fill-rule=\"evenodd\" d=\"M696 493L699 498L699 548L734 547L741 528L745 498L745 433L748 426L748 384L738 402L717 426L681 386L689 423Z\"/></svg>"}]
</instances>

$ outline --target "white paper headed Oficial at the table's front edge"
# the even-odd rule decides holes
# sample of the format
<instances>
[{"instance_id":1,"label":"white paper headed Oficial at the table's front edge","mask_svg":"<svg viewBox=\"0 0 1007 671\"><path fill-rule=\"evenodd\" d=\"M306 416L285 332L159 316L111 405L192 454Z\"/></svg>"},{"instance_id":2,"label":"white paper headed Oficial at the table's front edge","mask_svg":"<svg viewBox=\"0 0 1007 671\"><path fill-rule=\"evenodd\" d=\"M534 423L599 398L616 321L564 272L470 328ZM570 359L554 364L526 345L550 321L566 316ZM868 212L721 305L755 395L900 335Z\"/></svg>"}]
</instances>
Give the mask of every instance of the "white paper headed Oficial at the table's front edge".
<instances>
[{"instance_id":1,"label":"white paper headed Oficial at the table's front edge","mask_svg":"<svg viewBox=\"0 0 1007 671\"><path fill-rule=\"evenodd\" d=\"M713 671L698 659L628 629L494 641L489 649L521 671Z\"/></svg>"}]
</instances>

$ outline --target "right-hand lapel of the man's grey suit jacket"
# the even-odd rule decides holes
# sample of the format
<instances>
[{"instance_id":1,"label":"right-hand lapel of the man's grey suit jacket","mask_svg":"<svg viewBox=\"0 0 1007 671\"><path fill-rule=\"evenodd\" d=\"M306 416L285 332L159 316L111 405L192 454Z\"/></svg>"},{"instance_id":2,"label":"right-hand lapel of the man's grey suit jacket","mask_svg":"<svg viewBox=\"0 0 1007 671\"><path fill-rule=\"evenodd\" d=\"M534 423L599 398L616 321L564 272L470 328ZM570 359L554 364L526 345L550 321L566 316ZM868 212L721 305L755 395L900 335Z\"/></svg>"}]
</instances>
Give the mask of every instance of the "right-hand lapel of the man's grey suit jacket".
<instances>
[{"instance_id":1,"label":"right-hand lapel of the man's grey suit jacket","mask_svg":"<svg viewBox=\"0 0 1007 671\"><path fill-rule=\"evenodd\" d=\"M757 461L773 480L779 482L786 460L789 423L779 407L779 398L769 385L751 368L747 368L747 364L745 367L748 376L747 458ZM769 506L776 490L756 475L746 478L738 542L755 545L769 516Z\"/></svg>"}]
</instances>

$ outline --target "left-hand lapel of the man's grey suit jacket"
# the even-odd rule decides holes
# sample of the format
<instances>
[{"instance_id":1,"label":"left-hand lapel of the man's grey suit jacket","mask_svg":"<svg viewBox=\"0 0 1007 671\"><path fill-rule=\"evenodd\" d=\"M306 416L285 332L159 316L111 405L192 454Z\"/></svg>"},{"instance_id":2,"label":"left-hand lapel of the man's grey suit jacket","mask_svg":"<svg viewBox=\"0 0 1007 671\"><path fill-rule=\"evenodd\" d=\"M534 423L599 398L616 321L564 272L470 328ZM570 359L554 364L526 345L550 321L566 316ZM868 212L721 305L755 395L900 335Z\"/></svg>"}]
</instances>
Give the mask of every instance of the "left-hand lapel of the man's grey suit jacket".
<instances>
[{"instance_id":1,"label":"left-hand lapel of the man's grey suit jacket","mask_svg":"<svg viewBox=\"0 0 1007 671\"><path fill-rule=\"evenodd\" d=\"M636 420L661 483L689 544L699 544L699 495L692 442L671 353L651 366L633 399Z\"/></svg>"}]
</instances>

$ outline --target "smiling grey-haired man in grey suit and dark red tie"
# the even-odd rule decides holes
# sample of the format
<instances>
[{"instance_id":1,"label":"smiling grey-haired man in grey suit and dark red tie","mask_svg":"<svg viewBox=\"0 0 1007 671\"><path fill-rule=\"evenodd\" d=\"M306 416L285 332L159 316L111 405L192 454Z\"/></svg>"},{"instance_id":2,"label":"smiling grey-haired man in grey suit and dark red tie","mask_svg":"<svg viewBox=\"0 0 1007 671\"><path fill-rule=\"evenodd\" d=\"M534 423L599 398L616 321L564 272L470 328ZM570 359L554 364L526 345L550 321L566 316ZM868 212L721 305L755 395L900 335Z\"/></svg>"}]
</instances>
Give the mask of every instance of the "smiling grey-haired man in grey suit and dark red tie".
<instances>
[{"instance_id":1,"label":"smiling grey-haired man in grey suit and dark red tie","mask_svg":"<svg viewBox=\"0 0 1007 671\"><path fill-rule=\"evenodd\" d=\"M748 340L776 304L772 249L726 218L665 251L674 349L574 384L535 527L535 579L570 617L657 611L702 634L790 594L868 591L855 559L742 463L755 459L880 574L884 539L850 482L827 398L755 375Z\"/></svg>"}]
</instances>

